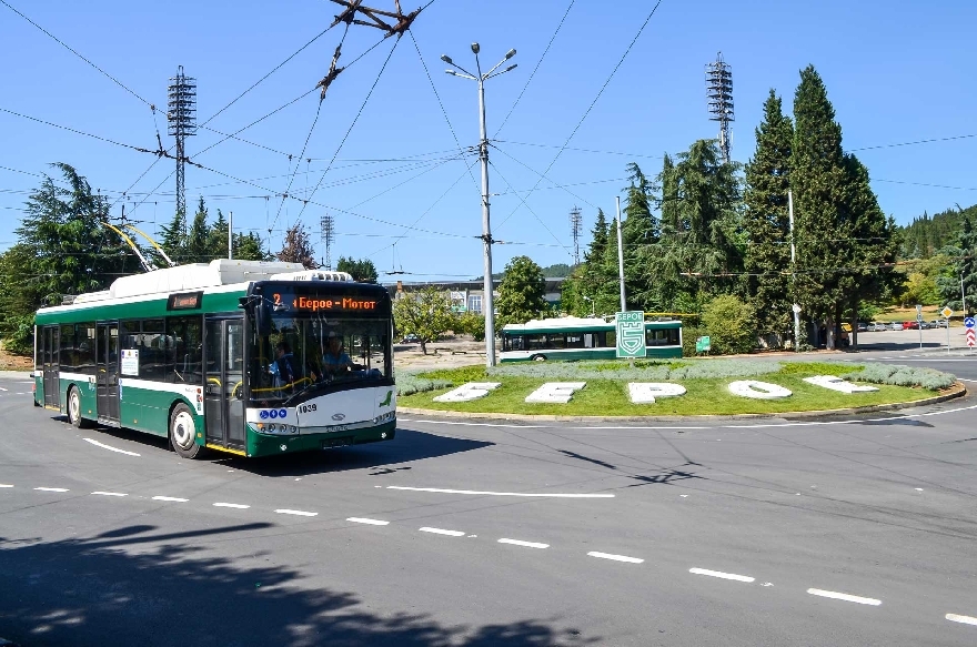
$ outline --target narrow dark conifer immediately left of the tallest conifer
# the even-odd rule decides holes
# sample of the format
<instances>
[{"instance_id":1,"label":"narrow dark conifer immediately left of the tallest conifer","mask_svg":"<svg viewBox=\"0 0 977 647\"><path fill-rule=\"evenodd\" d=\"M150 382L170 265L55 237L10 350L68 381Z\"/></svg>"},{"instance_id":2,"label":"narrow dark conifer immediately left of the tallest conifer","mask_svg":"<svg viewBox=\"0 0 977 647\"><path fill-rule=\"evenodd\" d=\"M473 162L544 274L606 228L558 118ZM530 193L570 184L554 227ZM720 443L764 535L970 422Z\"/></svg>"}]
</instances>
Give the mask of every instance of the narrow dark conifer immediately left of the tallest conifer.
<instances>
[{"instance_id":1,"label":"narrow dark conifer immediately left of the tallest conifer","mask_svg":"<svg viewBox=\"0 0 977 647\"><path fill-rule=\"evenodd\" d=\"M759 334L792 328L790 151L794 124L783 113L780 98L770 90L764 120L756 129L756 152L746 164L744 229L748 236L744 270L748 302L757 315Z\"/></svg>"}]
</instances>

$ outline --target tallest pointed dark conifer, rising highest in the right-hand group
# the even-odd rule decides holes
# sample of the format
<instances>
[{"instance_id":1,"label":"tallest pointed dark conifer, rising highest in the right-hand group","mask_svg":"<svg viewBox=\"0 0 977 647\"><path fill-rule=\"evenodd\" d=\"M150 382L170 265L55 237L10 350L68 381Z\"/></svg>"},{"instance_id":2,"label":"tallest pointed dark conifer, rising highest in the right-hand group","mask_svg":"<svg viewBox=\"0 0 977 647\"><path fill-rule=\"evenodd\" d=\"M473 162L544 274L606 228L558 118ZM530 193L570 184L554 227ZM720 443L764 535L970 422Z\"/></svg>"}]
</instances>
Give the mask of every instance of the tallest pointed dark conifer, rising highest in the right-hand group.
<instances>
[{"instance_id":1,"label":"tallest pointed dark conifer, rising highest in the right-hand group","mask_svg":"<svg viewBox=\"0 0 977 647\"><path fill-rule=\"evenodd\" d=\"M824 320L829 348L834 348L834 328L845 301L840 270L853 260L845 205L847 181L842 127L835 121L824 81L808 65L800 72L794 95L790 184L795 194L797 294L810 319Z\"/></svg>"}]
</instances>

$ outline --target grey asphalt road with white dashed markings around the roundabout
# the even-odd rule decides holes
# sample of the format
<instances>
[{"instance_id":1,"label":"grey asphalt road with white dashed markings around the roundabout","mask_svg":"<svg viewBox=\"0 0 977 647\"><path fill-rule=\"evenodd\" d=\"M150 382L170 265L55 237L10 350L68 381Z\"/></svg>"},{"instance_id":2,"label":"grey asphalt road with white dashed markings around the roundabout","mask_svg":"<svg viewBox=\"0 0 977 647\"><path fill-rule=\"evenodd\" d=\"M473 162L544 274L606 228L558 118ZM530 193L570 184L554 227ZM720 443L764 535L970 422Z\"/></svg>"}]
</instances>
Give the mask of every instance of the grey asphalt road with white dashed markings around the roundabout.
<instances>
[{"instance_id":1,"label":"grey asphalt road with white dashed markings around the roundabout","mask_svg":"<svg viewBox=\"0 0 977 647\"><path fill-rule=\"evenodd\" d=\"M188 462L77 431L22 382L0 380L0 636L24 646L977 644L975 397L647 426L402 415L385 444Z\"/></svg>"}]
</instances>

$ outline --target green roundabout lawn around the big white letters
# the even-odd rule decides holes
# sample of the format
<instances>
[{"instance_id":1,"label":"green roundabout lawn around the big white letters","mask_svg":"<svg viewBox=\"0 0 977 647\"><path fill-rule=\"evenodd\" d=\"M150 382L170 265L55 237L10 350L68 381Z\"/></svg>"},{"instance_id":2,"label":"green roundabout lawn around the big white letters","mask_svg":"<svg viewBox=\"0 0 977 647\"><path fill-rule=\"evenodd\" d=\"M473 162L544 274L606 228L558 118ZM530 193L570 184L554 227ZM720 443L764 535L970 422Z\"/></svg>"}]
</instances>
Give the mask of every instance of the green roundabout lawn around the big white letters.
<instances>
[{"instance_id":1,"label":"green roundabout lawn around the big white letters","mask_svg":"<svg viewBox=\"0 0 977 647\"><path fill-rule=\"evenodd\" d=\"M818 374L839 374L857 371L857 366L827 363L785 364L777 373L755 377L789 388L794 395L783 400L753 400L729 393L727 385L743 377L719 377L677 381L687 393L679 397L658 398L655 404L632 404L626 380L588 380L586 387L577 391L567 404L526 404L524 398L540 387L540 377L488 377L482 366L467 366L450 371L433 371L423 377L450 380L455 386L465 382L501 382L502 386L487 396L473 402L439 403L433 397L447 388L415 393L397 398L399 406L439 411L515 413L568 416L654 416L654 415L728 415L744 413L787 413L824 411L911 402L935 395L925 388L876 384L878 391L844 394L807 384L802 378ZM557 380L554 380L557 381Z\"/></svg>"}]
</instances>

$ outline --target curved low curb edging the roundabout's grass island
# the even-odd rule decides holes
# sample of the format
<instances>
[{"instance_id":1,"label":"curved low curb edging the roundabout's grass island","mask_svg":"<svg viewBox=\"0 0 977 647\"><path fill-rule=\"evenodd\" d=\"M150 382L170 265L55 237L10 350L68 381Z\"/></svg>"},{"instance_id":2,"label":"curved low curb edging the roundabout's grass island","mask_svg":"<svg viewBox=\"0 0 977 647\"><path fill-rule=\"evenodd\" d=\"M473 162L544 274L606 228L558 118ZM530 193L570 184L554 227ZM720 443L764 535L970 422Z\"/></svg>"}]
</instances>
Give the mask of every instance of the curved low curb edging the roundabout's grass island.
<instances>
[{"instance_id":1,"label":"curved low curb edging the roundabout's grass island","mask_svg":"<svg viewBox=\"0 0 977 647\"><path fill-rule=\"evenodd\" d=\"M561 416L561 415L530 415L530 414L518 414L518 413L506 414L506 413L441 411L441 410L436 410L436 408L414 408L414 407L400 407L400 406L397 407L397 413L405 413L409 415L433 415L433 416L443 416L443 417L476 418L476 419L574 422L574 423L597 423L597 422L674 423L674 422L684 422L684 421L709 422L709 421L742 421L742 419L757 419L757 418L784 418L784 419L789 421L789 419L797 419L797 418L828 417L828 416L852 415L852 414L873 413L873 412L882 412L882 411L899 411L903 408L910 408L910 407L915 407L915 406L927 406L930 404L939 404L941 402L947 402L948 400L963 397L966 394L967 394L966 385L964 385L964 383L961 383L961 382L957 382L946 393L941 393L939 395L934 395L933 397L925 397L923 400L915 400L913 402L894 402L892 404L872 404L872 405L866 405L866 406L855 406L855 407L846 407L846 408L830 408L830 410L822 410L822 411L798 411L798 412L783 412L783 413L739 413L739 414L725 414L725 415L692 415L692 416Z\"/></svg>"}]
</instances>

